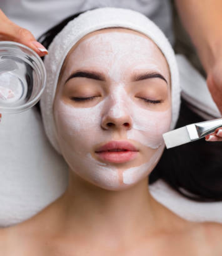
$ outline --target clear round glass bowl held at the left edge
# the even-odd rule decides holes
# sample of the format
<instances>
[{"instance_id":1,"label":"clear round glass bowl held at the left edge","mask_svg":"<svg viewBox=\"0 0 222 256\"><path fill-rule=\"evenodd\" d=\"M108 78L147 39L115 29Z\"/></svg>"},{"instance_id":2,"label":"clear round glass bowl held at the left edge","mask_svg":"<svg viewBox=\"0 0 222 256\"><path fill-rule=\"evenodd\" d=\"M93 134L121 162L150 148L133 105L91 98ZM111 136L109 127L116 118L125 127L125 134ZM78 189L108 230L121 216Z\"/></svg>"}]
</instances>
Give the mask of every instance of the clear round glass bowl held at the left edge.
<instances>
[{"instance_id":1,"label":"clear round glass bowl held at the left edge","mask_svg":"<svg viewBox=\"0 0 222 256\"><path fill-rule=\"evenodd\" d=\"M45 81L45 66L36 52L23 44L0 41L0 113L18 113L34 106Z\"/></svg>"}]
</instances>

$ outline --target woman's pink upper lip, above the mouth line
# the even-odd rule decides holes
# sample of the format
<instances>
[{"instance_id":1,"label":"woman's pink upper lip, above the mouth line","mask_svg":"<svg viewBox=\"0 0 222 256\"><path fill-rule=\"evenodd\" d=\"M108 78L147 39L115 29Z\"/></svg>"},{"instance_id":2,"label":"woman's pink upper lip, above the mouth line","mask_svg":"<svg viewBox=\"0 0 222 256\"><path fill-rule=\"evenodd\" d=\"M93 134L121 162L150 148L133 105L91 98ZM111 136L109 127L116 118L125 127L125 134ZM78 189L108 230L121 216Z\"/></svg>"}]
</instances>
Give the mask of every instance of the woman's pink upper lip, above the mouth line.
<instances>
[{"instance_id":1,"label":"woman's pink upper lip, above the mouth line","mask_svg":"<svg viewBox=\"0 0 222 256\"><path fill-rule=\"evenodd\" d=\"M122 150L127 150L127 151L139 151L136 147L134 147L134 145L132 145L128 141L113 140L113 141L106 143L102 147L98 148L95 152L99 153L99 152L115 150L115 149L122 149Z\"/></svg>"}]
</instances>

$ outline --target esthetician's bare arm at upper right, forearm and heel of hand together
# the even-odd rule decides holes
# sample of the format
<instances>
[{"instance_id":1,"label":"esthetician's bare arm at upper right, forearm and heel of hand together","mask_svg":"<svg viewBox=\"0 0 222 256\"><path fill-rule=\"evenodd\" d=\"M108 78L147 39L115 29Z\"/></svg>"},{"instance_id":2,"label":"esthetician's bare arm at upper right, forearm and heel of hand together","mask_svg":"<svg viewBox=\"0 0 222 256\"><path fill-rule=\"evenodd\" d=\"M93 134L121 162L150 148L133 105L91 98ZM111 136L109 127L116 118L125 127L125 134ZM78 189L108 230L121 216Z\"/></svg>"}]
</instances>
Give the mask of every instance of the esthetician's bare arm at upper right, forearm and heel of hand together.
<instances>
[{"instance_id":1,"label":"esthetician's bare arm at upper right, forearm and heel of hand together","mask_svg":"<svg viewBox=\"0 0 222 256\"><path fill-rule=\"evenodd\" d=\"M175 3L207 73L213 100L222 114L222 1L175 0Z\"/></svg>"}]
</instances>

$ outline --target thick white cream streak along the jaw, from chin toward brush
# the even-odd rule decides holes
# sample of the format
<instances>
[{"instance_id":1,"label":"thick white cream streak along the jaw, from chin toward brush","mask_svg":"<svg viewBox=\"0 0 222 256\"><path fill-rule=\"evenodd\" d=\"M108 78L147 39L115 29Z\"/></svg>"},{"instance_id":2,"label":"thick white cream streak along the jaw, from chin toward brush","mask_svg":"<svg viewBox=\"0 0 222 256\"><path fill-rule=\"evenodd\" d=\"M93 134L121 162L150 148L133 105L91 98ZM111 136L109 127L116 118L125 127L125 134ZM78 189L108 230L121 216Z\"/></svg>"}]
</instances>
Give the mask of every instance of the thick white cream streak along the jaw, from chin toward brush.
<instances>
[{"instance_id":1,"label":"thick white cream streak along the jaw, from chin toward brush","mask_svg":"<svg viewBox=\"0 0 222 256\"><path fill-rule=\"evenodd\" d=\"M159 147L156 152L152 155L150 160L137 167L132 167L123 172L123 183L124 184L133 184L138 182L140 179L145 177L150 173L150 168L153 167L159 160L162 154L163 146Z\"/></svg>"}]
</instances>

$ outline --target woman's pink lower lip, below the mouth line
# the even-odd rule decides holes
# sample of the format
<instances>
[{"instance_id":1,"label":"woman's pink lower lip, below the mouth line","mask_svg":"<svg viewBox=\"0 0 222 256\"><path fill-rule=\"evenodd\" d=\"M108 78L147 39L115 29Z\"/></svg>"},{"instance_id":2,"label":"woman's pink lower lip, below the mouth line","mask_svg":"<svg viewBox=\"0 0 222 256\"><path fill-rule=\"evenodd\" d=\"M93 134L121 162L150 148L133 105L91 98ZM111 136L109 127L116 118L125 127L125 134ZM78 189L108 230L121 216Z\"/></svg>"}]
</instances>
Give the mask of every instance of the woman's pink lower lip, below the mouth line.
<instances>
[{"instance_id":1,"label":"woman's pink lower lip, below the mouth line","mask_svg":"<svg viewBox=\"0 0 222 256\"><path fill-rule=\"evenodd\" d=\"M111 163L121 164L134 159L137 156L138 151L120 151L120 152L96 152L96 154L105 161Z\"/></svg>"}]
</instances>

